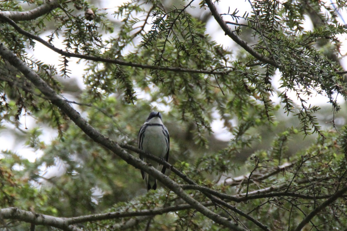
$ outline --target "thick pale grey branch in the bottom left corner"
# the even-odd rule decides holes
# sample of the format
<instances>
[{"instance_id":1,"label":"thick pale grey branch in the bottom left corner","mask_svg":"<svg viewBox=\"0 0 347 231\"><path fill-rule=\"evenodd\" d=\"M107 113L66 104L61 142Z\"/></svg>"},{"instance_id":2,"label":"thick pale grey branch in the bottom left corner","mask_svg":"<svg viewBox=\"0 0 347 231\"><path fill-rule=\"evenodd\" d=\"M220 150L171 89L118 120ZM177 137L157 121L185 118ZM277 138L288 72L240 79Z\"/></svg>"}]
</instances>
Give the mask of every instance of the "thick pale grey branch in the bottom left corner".
<instances>
[{"instance_id":1,"label":"thick pale grey branch in the bottom left corner","mask_svg":"<svg viewBox=\"0 0 347 231\"><path fill-rule=\"evenodd\" d=\"M12 219L28 222L35 225L52 226L66 231L82 231L66 222L66 218L54 217L49 215L36 214L18 208L0 209L1 219Z\"/></svg>"}]
</instances>

